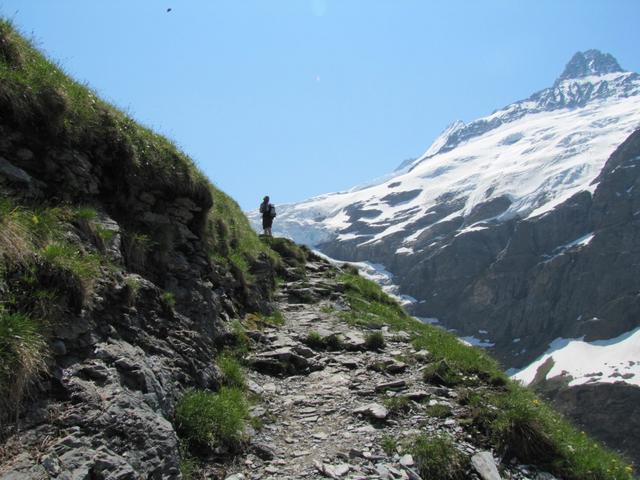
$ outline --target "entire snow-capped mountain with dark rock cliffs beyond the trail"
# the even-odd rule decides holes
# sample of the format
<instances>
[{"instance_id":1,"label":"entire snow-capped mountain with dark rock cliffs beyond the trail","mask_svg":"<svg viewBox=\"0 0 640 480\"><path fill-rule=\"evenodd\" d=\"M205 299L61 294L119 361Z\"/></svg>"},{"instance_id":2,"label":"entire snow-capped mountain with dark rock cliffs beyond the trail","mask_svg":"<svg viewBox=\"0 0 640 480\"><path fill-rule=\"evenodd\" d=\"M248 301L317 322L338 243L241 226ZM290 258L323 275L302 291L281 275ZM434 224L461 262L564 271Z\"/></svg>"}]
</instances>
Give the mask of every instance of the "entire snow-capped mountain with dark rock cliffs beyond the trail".
<instances>
[{"instance_id":1,"label":"entire snow-capped mountain with dark rock cliffs beyond the trail","mask_svg":"<svg viewBox=\"0 0 640 480\"><path fill-rule=\"evenodd\" d=\"M415 299L413 313L489 348L512 372L554 356L562 339L598 346L628 334L616 368L585 358L584 371L556 370L573 373L571 388L633 391L639 94L638 75L611 55L580 52L553 87L453 124L380 184L280 207L277 228L332 257L383 265ZM624 408L607 414L617 425ZM602 438L638 451L614 430Z\"/></svg>"}]
</instances>

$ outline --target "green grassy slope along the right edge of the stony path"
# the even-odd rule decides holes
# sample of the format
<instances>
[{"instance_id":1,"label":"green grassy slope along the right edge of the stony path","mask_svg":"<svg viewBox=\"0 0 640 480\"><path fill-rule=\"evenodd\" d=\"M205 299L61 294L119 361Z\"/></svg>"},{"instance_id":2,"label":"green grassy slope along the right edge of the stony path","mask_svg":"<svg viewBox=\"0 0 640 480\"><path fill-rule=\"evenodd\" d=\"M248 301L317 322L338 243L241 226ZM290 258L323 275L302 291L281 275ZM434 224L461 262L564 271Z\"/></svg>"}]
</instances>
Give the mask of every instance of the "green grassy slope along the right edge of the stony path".
<instances>
[{"instance_id":1,"label":"green grassy slope along the right edge of the stony path","mask_svg":"<svg viewBox=\"0 0 640 480\"><path fill-rule=\"evenodd\" d=\"M343 314L345 320L361 325L386 324L410 332L414 346L432 354L432 365L445 362L446 370L440 372L443 379L439 381L461 391L467 389L474 431L499 451L567 479L633 478L628 463L576 430L531 390L509 380L486 353L462 344L441 328L410 317L377 284L354 273L344 274L340 280L347 285L351 306L351 311ZM428 368L425 372L433 373Z\"/></svg>"}]
</instances>

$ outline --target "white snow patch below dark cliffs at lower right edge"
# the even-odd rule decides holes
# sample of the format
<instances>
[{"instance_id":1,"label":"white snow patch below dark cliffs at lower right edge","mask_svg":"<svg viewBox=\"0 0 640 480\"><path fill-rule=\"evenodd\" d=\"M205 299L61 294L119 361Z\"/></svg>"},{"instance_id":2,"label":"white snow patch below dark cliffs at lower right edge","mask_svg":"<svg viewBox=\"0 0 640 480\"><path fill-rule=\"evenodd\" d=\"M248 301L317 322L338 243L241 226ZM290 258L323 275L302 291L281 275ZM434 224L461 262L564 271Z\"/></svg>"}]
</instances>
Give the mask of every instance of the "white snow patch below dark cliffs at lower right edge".
<instances>
[{"instance_id":1,"label":"white snow patch below dark cliffs at lower right edge","mask_svg":"<svg viewBox=\"0 0 640 480\"><path fill-rule=\"evenodd\" d=\"M569 386L615 382L640 386L640 327L610 340L558 338L541 357L510 375L529 385L549 358L553 367L546 379L568 375L572 378Z\"/></svg>"}]
</instances>

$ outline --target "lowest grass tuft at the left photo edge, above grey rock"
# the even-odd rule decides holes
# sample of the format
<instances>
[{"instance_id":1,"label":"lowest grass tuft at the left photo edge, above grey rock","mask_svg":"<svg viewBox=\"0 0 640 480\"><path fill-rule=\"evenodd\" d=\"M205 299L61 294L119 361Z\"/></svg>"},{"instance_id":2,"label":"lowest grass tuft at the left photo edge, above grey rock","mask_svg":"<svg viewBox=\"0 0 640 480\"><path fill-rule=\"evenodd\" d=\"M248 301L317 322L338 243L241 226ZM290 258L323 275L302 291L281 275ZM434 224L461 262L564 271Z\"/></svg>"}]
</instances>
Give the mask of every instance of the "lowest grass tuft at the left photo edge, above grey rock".
<instances>
[{"instance_id":1,"label":"lowest grass tuft at the left photo edge, above grey rock","mask_svg":"<svg viewBox=\"0 0 640 480\"><path fill-rule=\"evenodd\" d=\"M41 330L36 320L0 307L0 421L17 412L31 382L46 370L47 345Z\"/></svg>"}]
</instances>

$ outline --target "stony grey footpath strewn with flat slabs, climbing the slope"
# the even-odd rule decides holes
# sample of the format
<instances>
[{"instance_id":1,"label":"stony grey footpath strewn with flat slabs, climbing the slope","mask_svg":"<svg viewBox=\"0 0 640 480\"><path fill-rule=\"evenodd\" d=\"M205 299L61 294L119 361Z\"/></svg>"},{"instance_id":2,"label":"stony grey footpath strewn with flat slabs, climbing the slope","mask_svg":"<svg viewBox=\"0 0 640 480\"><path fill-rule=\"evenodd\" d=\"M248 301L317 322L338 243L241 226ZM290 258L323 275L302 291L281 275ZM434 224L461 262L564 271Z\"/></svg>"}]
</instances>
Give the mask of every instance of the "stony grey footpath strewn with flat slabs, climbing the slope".
<instances>
[{"instance_id":1,"label":"stony grey footpath strewn with flat slabs, climbing the slope","mask_svg":"<svg viewBox=\"0 0 640 480\"><path fill-rule=\"evenodd\" d=\"M384 328L384 348L367 350L370 332L338 317L347 306L327 273L326 264L308 264L305 281L286 283L277 298L284 325L251 332L258 348L249 388L262 399L252 415L262 427L227 478L415 480L414 459L401 446L425 432L456 439L478 464L469 478L501 478L491 453L469 443L458 393L422 381L428 352L414 350L408 334ZM310 332L328 344L339 339L341 348L310 348ZM523 467L506 473L502 478L536 478Z\"/></svg>"}]
</instances>

